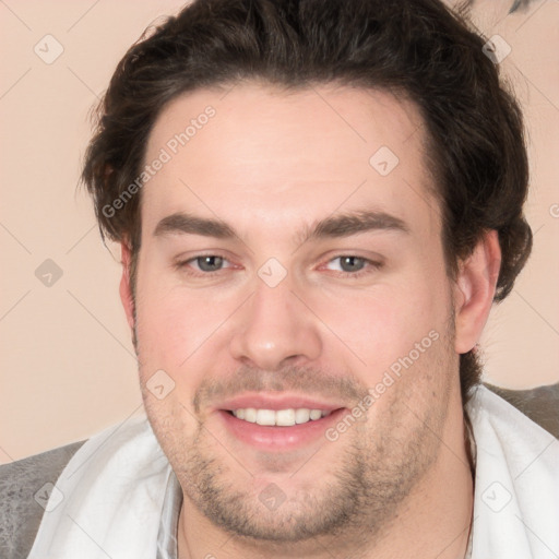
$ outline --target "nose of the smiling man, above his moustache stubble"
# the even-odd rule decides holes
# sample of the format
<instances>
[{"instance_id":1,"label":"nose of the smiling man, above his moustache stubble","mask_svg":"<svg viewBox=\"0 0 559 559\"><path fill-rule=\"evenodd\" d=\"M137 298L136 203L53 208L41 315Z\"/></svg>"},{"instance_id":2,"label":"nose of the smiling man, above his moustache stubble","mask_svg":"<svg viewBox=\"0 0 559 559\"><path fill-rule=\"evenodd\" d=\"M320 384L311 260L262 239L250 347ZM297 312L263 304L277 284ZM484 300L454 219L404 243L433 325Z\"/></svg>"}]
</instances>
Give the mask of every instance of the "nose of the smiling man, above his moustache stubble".
<instances>
[{"instance_id":1,"label":"nose of the smiling man, above his moustache stubble","mask_svg":"<svg viewBox=\"0 0 559 559\"><path fill-rule=\"evenodd\" d=\"M317 359L322 352L320 320L292 290L289 276L275 287L260 278L236 313L230 342L234 358L262 370L278 370Z\"/></svg>"}]
</instances>

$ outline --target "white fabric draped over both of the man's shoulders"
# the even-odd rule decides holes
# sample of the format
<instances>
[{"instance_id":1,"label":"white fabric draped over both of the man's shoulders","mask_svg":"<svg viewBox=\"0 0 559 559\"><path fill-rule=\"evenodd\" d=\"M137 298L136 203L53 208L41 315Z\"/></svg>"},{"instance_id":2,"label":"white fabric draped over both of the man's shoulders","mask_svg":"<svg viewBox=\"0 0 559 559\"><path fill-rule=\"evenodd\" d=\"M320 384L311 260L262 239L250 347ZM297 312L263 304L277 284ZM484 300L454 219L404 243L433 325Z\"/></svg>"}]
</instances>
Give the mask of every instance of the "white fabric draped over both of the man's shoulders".
<instances>
[{"instance_id":1,"label":"white fabric draped over both of the man's shoulders","mask_svg":"<svg viewBox=\"0 0 559 559\"><path fill-rule=\"evenodd\" d=\"M477 450L472 558L557 558L559 441L484 386L468 409ZM171 474L145 416L98 433L56 483L64 498L45 512L29 559L155 559Z\"/></svg>"}]
</instances>

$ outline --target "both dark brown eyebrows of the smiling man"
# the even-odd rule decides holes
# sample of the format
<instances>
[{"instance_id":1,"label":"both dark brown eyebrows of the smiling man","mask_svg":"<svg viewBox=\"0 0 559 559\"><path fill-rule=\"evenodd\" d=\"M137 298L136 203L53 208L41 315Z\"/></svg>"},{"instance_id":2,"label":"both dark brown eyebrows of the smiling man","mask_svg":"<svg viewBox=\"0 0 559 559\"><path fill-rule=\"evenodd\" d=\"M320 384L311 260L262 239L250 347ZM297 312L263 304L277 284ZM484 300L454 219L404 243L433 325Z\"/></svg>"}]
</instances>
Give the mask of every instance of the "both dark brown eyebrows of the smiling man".
<instances>
[{"instance_id":1,"label":"both dark brown eyebrows of the smiling man","mask_svg":"<svg viewBox=\"0 0 559 559\"><path fill-rule=\"evenodd\" d=\"M295 235L295 239L298 243L302 245L310 240L349 237L372 230L411 233L407 224L400 217L381 211L357 211L331 215L313 225L306 225ZM201 235L217 239L238 237L234 227L223 221L199 217L183 212L177 212L164 217L158 222L154 230L154 236L156 237L177 234Z\"/></svg>"}]
</instances>

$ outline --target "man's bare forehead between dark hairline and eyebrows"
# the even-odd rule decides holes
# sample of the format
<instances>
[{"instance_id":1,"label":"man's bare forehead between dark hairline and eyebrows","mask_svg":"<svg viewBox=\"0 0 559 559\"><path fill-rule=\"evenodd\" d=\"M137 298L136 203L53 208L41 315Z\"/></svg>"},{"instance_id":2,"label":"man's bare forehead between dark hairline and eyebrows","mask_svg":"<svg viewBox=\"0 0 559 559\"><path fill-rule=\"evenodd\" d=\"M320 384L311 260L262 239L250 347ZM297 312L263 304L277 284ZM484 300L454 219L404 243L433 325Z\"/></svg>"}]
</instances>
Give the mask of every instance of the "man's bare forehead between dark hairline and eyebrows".
<instances>
[{"instance_id":1,"label":"man's bare forehead between dark hairline and eyebrows","mask_svg":"<svg viewBox=\"0 0 559 559\"><path fill-rule=\"evenodd\" d=\"M417 107L388 92L259 83L199 90L171 102L144 164L165 159L142 191L144 229L175 212L235 215L266 226L373 206L437 222ZM419 214L419 215L418 215ZM214 217L215 217L214 215ZM418 224L420 225L420 224Z\"/></svg>"}]
</instances>

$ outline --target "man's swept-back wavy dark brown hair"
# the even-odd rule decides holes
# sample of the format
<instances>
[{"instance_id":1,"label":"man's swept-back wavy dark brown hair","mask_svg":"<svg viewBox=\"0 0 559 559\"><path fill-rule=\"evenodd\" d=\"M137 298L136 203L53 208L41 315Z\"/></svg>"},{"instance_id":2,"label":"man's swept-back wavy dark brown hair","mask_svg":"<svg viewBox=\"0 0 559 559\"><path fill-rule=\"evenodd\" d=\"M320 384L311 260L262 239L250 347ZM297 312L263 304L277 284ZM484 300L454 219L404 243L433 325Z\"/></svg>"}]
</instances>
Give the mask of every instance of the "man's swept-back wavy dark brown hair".
<instances>
[{"instance_id":1,"label":"man's swept-back wavy dark brown hair","mask_svg":"<svg viewBox=\"0 0 559 559\"><path fill-rule=\"evenodd\" d=\"M438 0L195 0L128 50L97 109L82 179L102 235L130 243L134 274L141 192L107 207L139 177L151 129L178 95L240 80L380 88L415 102L425 120L449 276L496 229L495 300L504 299L532 248L527 156L521 111L484 43ZM475 350L460 373L465 403L481 373Z\"/></svg>"}]
</instances>

